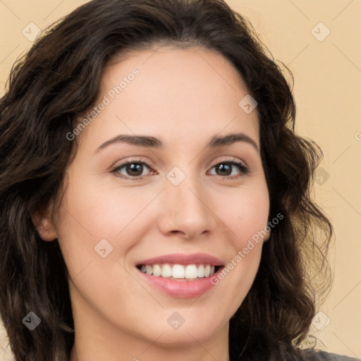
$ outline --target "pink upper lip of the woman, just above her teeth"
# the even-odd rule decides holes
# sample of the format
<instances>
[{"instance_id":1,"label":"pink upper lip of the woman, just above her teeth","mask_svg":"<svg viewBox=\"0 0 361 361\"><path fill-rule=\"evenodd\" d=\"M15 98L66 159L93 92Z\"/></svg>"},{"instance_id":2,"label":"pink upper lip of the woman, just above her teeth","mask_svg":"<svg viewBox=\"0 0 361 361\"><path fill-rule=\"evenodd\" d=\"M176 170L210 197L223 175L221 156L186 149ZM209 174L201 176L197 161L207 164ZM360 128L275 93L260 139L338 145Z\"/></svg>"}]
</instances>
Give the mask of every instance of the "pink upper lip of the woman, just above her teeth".
<instances>
[{"instance_id":1,"label":"pink upper lip of the woman, just above her teeth","mask_svg":"<svg viewBox=\"0 0 361 361\"><path fill-rule=\"evenodd\" d=\"M193 253L192 255L186 255L184 253L173 253L171 255L162 255L159 257L153 257L144 259L136 263L136 266L141 264L210 264L211 266L223 266L221 259L216 258L207 253Z\"/></svg>"}]
</instances>

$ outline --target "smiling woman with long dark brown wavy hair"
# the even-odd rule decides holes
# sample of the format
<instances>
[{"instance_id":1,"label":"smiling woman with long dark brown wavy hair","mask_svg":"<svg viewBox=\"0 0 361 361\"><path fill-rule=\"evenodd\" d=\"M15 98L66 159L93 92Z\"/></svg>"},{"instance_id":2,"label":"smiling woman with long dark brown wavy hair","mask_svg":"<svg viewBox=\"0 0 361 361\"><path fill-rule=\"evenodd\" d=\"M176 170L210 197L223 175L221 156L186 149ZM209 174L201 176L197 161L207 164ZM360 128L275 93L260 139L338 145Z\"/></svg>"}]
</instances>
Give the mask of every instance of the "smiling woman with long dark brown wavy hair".
<instances>
[{"instance_id":1,"label":"smiling woman with long dark brown wavy hair","mask_svg":"<svg viewBox=\"0 0 361 361\"><path fill-rule=\"evenodd\" d=\"M16 360L351 360L299 347L332 226L294 122L221 0L94 0L47 30L0 104Z\"/></svg>"}]
</instances>

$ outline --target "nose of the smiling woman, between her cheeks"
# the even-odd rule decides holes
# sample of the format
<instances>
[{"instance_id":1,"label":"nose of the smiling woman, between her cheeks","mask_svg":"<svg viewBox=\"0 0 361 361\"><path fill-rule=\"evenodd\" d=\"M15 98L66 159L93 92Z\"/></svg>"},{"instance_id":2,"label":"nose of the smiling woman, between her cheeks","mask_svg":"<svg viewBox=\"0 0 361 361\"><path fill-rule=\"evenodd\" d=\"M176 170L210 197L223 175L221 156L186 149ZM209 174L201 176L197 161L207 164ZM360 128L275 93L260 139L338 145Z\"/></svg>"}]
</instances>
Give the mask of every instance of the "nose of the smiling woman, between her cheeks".
<instances>
[{"instance_id":1,"label":"nose of the smiling woman, between her cheeks","mask_svg":"<svg viewBox=\"0 0 361 361\"><path fill-rule=\"evenodd\" d=\"M178 234L187 240L196 240L216 229L217 216L214 197L196 176L186 176L178 185L165 180L161 192L159 228L166 235Z\"/></svg>"}]
</instances>

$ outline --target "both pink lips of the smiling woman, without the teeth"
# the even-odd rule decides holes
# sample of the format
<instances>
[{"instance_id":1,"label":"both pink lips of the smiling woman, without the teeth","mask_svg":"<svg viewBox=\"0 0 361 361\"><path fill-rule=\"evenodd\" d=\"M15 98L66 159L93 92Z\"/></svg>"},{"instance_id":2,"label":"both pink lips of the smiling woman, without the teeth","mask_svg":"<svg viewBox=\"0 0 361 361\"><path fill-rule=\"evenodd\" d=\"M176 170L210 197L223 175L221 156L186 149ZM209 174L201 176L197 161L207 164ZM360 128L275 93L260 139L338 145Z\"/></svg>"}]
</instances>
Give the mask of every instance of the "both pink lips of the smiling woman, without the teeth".
<instances>
[{"instance_id":1,"label":"both pink lips of the smiling woman, without the teeth","mask_svg":"<svg viewBox=\"0 0 361 361\"><path fill-rule=\"evenodd\" d=\"M217 271L213 276L192 279L192 280L175 280L161 276L152 276L150 274L143 273L138 267L141 265L152 264L211 264L217 267ZM202 295L207 290L214 287L211 283L211 277L215 277L221 269L223 269L223 262L221 259L207 255L206 253L196 253L192 255L184 254L172 254L163 255L160 257L153 257L137 262L136 269L139 271L140 276L144 277L145 281L149 282L151 286L161 290L162 292L177 298L195 298Z\"/></svg>"}]
</instances>

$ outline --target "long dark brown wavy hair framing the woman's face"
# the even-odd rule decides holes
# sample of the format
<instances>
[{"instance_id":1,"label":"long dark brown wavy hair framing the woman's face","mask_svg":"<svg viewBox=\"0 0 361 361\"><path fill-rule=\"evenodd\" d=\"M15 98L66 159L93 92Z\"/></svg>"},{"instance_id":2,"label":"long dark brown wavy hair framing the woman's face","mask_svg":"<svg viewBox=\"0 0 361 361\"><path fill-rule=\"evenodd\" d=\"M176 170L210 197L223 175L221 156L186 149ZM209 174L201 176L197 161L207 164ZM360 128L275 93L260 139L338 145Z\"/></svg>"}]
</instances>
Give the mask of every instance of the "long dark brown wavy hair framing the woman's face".
<instances>
[{"instance_id":1,"label":"long dark brown wavy hair framing the woman's face","mask_svg":"<svg viewBox=\"0 0 361 361\"><path fill-rule=\"evenodd\" d=\"M66 134L97 99L106 63L157 44L218 51L257 101L269 219L284 218L230 320L229 353L232 361L301 360L317 293L331 285L326 253L333 228L312 200L322 150L295 134L282 66L223 0L93 0L47 28L11 69L0 99L0 312L13 355L69 359L74 322L66 264L58 241L42 241L30 214L59 195L78 147ZM32 332L22 323L30 310L42 320Z\"/></svg>"}]
</instances>

